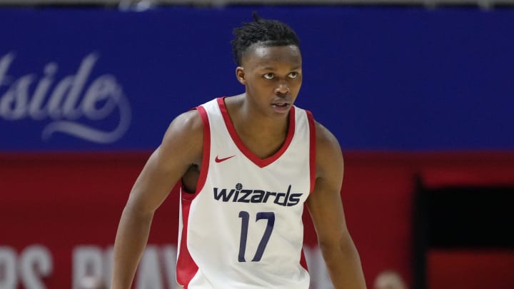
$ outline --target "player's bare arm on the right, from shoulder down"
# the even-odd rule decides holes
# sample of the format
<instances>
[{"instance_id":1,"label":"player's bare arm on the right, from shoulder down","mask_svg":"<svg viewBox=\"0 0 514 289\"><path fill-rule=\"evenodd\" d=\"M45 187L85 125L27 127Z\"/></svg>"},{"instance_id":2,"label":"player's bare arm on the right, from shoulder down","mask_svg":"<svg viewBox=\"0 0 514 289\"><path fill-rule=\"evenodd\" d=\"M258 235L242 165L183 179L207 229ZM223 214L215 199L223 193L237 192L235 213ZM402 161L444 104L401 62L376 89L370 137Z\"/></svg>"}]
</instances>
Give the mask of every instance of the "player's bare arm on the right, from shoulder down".
<instances>
[{"instance_id":1,"label":"player's bare arm on the right, from shoulder down","mask_svg":"<svg viewBox=\"0 0 514 289\"><path fill-rule=\"evenodd\" d=\"M341 202L343 155L337 139L316 123L316 185L307 199L318 244L336 289L366 288Z\"/></svg>"}]
</instances>

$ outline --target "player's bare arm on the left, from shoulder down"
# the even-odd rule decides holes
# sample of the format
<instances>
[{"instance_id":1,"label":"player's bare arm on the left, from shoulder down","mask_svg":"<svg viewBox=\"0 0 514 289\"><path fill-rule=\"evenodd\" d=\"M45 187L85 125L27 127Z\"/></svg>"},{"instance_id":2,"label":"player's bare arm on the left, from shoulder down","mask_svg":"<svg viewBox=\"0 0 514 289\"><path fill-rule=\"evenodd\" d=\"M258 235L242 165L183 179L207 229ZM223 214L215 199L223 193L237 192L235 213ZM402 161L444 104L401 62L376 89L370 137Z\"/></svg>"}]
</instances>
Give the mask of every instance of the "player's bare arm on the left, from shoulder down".
<instances>
[{"instance_id":1,"label":"player's bare arm on the left, from shoulder down","mask_svg":"<svg viewBox=\"0 0 514 289\"><path fill-rule=\"evenodd\" d=\"M173 120L131 190L114 242L112 289L129 289L148 240L153 212L192 164L200 165L203 125L197 111Z\"/></svg>"}]
</instances>

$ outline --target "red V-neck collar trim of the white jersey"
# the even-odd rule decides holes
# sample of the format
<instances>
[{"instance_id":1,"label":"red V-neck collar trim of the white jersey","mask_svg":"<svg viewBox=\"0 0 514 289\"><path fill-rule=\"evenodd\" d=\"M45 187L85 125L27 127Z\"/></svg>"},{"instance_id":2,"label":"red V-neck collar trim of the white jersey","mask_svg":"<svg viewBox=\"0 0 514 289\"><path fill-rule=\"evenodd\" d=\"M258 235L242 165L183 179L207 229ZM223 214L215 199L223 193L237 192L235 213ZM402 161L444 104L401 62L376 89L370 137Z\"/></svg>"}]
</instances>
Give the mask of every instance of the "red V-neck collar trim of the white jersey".
<instances>
[{"instance_id":1,"label":"red V-neck collar trim of the white jersey","mask_svg":"<svg viewBox=\"0 0 514 289\"><path fill-rule=\"evenodd\" d=\"M269 156L268 158L259 158L255 153L250 151L241 141L241 138L239 138L236 128L233 126L233 123L230 119L230 116L228 116L228 111L225 106L225 101L223 101L223 97L217 98L218 106L221 111L221 116L223 116L223 121L225 122L225 126L228 130L228 133L230 134L232 141L236 143L236 146L239 148L239 151L243 153L243 155L246 156L250 161L255 163L259 168L263 168L265 166L268 166L269 164L273 163L273 161L276 161L278 158L280 158L284 152L286 152L289 144L291 144L291 141L293 140L293 135L295 131L295 108L294 106L291 106L291 110L289 111L289 127L288 127L288 133L286 136L286 140L282 144L281 148L273 154L273 156Z\"/></svg>"}]
</instances>

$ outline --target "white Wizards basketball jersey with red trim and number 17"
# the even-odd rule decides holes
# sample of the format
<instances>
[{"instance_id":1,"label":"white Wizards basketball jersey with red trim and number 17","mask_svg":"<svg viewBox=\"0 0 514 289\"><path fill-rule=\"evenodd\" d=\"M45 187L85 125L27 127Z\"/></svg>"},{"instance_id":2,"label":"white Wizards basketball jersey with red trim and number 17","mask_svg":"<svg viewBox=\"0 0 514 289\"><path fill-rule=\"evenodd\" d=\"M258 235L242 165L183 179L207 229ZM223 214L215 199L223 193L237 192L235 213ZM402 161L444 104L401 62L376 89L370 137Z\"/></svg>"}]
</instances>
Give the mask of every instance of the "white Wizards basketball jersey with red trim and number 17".
<instances>
[{"instance_id":1,"label":"white Wizards basketball jersey with red trim and number 17","mask_svg":"<svg viewBox=\"0 0 514 289\"><path fill-rule=\"evenodd\" d=\"M313 191L311 113L295 106L286 141L258 158L245 147L223 98L198 106L203 159L196 192L181 191L177 281L185 288L308 288L303 203Z\"/></svg>"}]
</instances>

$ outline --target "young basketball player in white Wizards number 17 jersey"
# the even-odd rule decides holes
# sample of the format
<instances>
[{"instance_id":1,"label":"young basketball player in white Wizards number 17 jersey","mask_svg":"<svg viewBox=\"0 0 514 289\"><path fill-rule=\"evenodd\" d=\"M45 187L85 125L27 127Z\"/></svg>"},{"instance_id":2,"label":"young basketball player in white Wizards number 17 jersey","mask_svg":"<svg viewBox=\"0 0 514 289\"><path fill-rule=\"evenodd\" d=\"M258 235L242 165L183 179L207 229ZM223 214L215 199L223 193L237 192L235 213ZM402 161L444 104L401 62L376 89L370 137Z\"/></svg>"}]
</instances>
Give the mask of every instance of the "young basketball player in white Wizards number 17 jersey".
<instances>
[{"instance_id":1,"label":"young basketball player in white Wizards number 17 jersey","mask_svg":"<svg viewBox=\"0 0 514 289\"><path fill-rule=\"evenodd\" d=\"M181 181L177 281L185 288L308 288L306 203L336 288L366 288L341 204L343 156L311 113L295 32L261 19L234 29L238 96L175 118L133 186L114 244L112 288L130 288L153 212Z\"/></svg>"}]
</instances>

